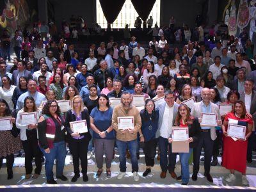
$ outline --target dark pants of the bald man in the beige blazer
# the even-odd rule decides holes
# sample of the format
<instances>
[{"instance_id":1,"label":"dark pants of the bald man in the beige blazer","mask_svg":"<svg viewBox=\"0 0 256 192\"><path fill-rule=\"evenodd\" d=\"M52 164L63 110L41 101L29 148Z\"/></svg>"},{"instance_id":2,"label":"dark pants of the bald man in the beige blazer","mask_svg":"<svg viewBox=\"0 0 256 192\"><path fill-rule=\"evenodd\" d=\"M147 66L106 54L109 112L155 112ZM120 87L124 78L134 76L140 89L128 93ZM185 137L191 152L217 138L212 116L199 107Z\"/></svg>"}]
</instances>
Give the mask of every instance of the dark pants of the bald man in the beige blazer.
<instances>
[{"instance_id":1,"label":"dark pants of the bald man in the beige blazer","mask_svg":"<svg viewBox=\"0 0 256 192\"><path fill-rule=\"evenodd\" d=\"M201 132L200 139L198 140L198 145L194 148L194 165L193 173L199 172L199 163L202 148L204 147L204 171L206 174L210 173L211 160L212 160L212 148L213 143L211 139L211 131Z\"/></svg>"}]
</instances>

